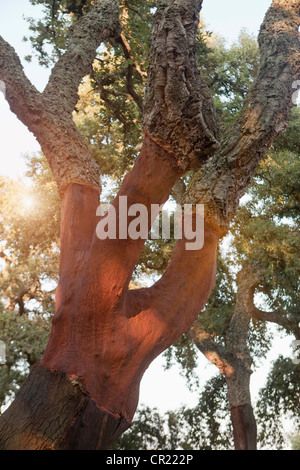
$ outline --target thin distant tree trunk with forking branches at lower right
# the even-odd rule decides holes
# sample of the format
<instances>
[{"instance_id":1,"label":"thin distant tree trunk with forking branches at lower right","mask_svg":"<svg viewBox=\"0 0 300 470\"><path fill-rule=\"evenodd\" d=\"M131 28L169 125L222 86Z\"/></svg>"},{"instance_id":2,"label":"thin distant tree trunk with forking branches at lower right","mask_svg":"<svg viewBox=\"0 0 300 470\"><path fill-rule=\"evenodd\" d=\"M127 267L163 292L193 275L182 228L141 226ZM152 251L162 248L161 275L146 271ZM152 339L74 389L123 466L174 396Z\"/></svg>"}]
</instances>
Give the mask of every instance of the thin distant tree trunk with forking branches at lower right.
<instances>
[{"instance_id":1,"label":"thin distant tree trunk with forking branches at lower right","mask_svg":"<svg viewBox=\"0 0 300 470\"><path fill-rule=\"evenodd\" d=\"M236 282L236 303L225 332L225 344L215 342L199 320L193 323L189 332L198 349L225 377L235 449L256 450L257 425L250 393L253 362L248 349L250 321L277 323L296 338L299 337L299 327L287 312L264 312L255 306L255 289L261 279L247 263L238 273Z\"/></svg>"}]
</instances>

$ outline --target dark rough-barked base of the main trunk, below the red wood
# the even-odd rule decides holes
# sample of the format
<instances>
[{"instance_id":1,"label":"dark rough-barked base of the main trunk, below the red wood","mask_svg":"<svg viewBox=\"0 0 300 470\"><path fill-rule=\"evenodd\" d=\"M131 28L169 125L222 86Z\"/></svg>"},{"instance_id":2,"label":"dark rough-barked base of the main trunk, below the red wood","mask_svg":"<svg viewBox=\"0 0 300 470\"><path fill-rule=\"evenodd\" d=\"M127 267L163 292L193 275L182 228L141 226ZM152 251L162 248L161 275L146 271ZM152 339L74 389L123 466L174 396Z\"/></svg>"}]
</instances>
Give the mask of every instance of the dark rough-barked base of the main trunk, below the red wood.
<instances>
[{"instance_id":1,"label":"dark rough-barked base of the main trunk, below the red wood","mask_svg":"<svg viewBox=\"0 0 300 470\"><path fill-rule=\"evenodd\" d=\"M129 427L64 372L32 369L1 416L0 450L101 450Z\"/></svg>"}]
</instances>

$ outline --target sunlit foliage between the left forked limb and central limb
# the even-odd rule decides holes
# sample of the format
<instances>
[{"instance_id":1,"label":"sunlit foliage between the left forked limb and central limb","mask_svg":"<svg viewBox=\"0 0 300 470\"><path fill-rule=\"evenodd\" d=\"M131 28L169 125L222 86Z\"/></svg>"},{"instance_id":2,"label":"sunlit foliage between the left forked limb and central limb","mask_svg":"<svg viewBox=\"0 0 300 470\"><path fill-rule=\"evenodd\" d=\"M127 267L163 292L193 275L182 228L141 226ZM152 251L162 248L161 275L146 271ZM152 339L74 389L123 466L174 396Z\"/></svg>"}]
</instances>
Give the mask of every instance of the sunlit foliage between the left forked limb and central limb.
<instances>
[{"instance_id":1,"label":"sunlit foliage between the left forked limb and central limb","mask_svg":"<svg viewBox=\"0 0 300 470\"><path fill-rule=\"evenodd\" d=\"M122 35L99 50L74 115L102 174L119 182L131 168L142 141L142 100L154 5L153 1L122 2Z\"/></svg>"}]
</instances>

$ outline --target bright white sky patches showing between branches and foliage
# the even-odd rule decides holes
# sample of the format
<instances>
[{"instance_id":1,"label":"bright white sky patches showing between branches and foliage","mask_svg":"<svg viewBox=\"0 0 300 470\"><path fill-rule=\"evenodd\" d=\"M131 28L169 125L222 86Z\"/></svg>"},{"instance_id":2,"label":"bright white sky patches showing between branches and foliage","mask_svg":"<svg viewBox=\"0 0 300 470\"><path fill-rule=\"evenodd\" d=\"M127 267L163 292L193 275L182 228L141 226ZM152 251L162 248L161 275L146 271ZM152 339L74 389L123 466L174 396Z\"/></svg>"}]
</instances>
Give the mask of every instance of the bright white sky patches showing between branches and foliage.
<instances>
[{"instance_id":1,"label":"bright white sky patches showing between branches and foliage","mask_svg":"<svg viewBox=\"0 0 300 470\"><path fill-rule=\"evenodd\" d=\"M228 43L235 41L241 28L247 28L250 33L258 34L260 24L271 4L271 0L204 0L202 16L205 23L215 33L222 35ZM23 19L25 16L35 16L39 8L33 7L29 0L0 0L0 35L8 41L17 51L24 65L25 73L32 83L42 91L47 83L49 71L37 65L36 61L28 64L24 56L29 54L28 43L22 38L28 34L28 26ZM22 155L39 150L34 136L10 112L9 107L0 92L0 175L11 177L22 176L25 165ZM278 343L278 350L283 351L289 344L288 340ZM277 349L276 348L276 349ZM277 351L272 351L266 363L275 358ZM176 409L182 404L194 406L197 403L198 393L191 393L185 380L180 377L178 368L164 371L162 358L156 359L146 371L142 380L140 403L157 407L161 411ZM215 368L204 356L199 354L197 375L200 385L215 374ZM258 370L252 378L252 389L257 394L258 387L266 376L266 365Z\"/></svg>"}]
</instances>

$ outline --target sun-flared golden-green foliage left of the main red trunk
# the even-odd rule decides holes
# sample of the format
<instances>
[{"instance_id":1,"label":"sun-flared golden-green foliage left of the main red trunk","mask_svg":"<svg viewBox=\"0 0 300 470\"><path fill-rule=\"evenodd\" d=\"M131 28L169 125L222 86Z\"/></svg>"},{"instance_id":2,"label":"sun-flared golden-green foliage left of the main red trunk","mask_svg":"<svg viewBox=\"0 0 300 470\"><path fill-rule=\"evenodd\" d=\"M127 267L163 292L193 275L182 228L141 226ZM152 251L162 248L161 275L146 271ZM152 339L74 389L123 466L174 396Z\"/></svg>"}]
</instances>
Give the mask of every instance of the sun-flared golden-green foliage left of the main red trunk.
<instances>
[{"instance_id":1,"label":"sun-flared golden-green foliage left of the main red trunk","mask_svg":"<svg viewBox=\"0 0 300 470\"><path fill-rule=\"evenodd\" d=\"M58 281L60 200L43 156L28 157L27 178L0 181L0 406L42 356Z\"/></svg>"}]
</instances>

